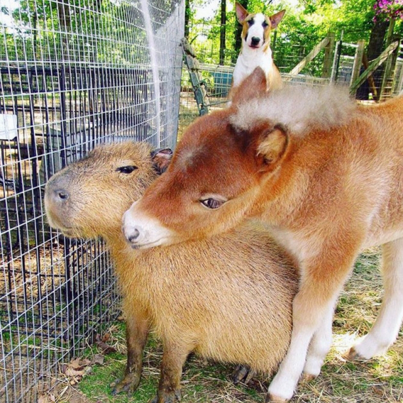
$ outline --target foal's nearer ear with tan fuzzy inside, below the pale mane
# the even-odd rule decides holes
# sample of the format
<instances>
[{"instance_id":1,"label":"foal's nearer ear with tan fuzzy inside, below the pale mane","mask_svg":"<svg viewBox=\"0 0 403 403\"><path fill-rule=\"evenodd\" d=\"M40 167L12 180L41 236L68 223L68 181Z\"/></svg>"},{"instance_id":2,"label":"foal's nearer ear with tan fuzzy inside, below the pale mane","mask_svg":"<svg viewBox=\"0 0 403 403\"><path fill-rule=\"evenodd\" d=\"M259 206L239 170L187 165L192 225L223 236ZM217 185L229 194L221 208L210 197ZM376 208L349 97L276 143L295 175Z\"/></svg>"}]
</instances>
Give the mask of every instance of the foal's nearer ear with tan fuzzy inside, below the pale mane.
<instances>
[{"instance_id":1,"label":"foal's nearer ear with tan fuzzy inside, below the pale mane","mask_svg":"<svg viewBox=\"0 0 403 403\"><path fill-rule=\"evenodd\" d=\"M263 157L264 164L273 167L284 155L288 146L285 127L277 125L261 133L257 144L257 155Z\"/></svg>"}]
</instances>

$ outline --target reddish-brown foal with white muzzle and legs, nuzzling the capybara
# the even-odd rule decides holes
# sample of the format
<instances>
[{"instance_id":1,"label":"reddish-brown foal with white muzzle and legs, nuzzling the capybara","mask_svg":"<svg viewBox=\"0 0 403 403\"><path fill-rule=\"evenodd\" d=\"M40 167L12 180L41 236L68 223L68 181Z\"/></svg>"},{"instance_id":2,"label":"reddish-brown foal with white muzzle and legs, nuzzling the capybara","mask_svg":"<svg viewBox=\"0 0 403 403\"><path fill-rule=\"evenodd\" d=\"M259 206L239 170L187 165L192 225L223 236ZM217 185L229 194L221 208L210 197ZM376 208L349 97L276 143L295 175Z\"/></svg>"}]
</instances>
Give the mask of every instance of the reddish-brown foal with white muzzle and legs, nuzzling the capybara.
<instances>
[{"instance_id":1,"label":"reddish-brown foal with white muzzle and legs, nuzzling the capybara","mask_svg":"<svg viewBox=\"0 0 403 403\"><path fill-rule=\"evenodd\" d=\"M265 86L256 69L230 108L187 129L167 172L125 214L125 233L143 248L228 231L246 216L271 227L301 273L290 348L269 386L268 399L283 402L302 371L319 374L336 299L365 247L383 245L385 294L348 357L370 359L398 335L403 98L360 106L335 87Z\"/></svg>"}]
</instances>

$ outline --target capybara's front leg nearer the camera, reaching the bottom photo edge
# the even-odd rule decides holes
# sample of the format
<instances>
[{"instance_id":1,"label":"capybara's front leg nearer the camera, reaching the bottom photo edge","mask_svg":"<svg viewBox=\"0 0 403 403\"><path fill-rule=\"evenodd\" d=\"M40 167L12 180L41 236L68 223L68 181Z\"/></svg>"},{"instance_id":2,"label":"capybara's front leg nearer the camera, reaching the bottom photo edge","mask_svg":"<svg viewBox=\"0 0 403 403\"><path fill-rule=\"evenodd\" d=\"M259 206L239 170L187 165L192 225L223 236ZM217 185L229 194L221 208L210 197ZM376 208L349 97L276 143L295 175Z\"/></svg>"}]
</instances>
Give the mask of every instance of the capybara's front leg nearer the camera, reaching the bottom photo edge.
<instances>
[{"instance_id":1,"label":"capybara's front leg nearer the camera, reaching the bottom photo edge","mask_svg":"<svg viewBox=\"0 0 403 403\"><path fill-rule=\"evenodd\" d=\"M191 347L179 346L173 343L164 343L164 354L161 362L161 375L157 396L150 403L180 402L180 380L182 368Z\"/></svg>"}]
</instances>

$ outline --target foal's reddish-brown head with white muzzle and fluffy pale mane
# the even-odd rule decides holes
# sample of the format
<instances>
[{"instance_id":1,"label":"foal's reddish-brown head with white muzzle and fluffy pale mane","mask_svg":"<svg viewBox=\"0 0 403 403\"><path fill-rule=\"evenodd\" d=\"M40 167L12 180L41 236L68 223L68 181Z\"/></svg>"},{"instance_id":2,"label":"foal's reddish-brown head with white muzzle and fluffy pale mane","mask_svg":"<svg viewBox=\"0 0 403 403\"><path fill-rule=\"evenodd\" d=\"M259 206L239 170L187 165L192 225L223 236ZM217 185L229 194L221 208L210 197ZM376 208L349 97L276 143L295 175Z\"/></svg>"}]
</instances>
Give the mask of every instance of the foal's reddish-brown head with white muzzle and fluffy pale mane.
<instances>
[{"instance_id":1,"label":"foal's reddish-brown head with white muzzle and fluffy pale mane","mask_svg":"<svg viewBox=\"0 0 403 403\"><path fill-rule=\"evenodd\" d=\"M294 180L287 161L301 139L318 127L329 131L342 125L349 105L354 107L348 95L334 88L267 93L265 75L256 68L230 108L203 116L186 130L167 172L125 213L132 247L211 236L259 215L265 210L256 202L262 184L265 202L275 200ZM310 157L305 154L302 163Z\"/></svg>"}]
</instances>

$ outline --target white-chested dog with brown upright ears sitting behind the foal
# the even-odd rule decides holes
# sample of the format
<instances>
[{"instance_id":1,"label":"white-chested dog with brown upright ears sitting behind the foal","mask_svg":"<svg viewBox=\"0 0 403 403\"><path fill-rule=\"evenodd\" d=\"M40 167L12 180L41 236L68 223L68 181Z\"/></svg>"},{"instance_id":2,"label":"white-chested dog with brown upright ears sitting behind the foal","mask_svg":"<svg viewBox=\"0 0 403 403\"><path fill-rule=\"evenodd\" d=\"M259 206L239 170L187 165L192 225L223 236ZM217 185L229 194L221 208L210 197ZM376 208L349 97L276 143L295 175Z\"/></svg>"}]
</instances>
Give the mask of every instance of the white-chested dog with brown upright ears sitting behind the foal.
<instances>
[{"instance_id":1,"label":"white-chested dog with brown upright ears sitting behind the foal","mask_svg":"<svg viewBox=\"0 0 403 403\"><path fill-rule=\"evenodd\" d=\"M280 73L273 62L270 48L270 32L284 17L285 10L268 17L262 13L250 14L239 3L235 3L236 17L242 28L242 45L233 70L233 82L230 99L241 82L256 67L261 67L266 74L267 89L281 88Z\"/></svg>"}]
</instances>

